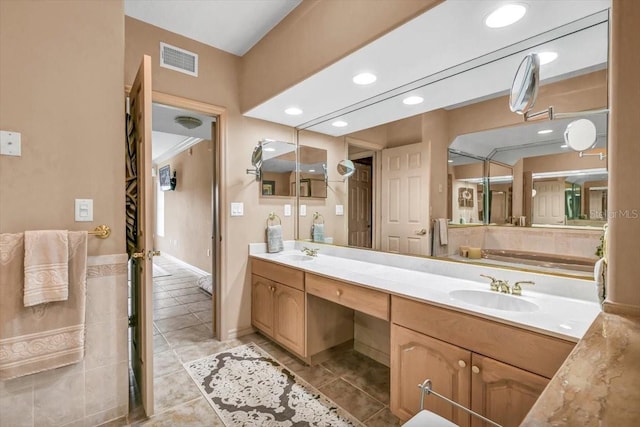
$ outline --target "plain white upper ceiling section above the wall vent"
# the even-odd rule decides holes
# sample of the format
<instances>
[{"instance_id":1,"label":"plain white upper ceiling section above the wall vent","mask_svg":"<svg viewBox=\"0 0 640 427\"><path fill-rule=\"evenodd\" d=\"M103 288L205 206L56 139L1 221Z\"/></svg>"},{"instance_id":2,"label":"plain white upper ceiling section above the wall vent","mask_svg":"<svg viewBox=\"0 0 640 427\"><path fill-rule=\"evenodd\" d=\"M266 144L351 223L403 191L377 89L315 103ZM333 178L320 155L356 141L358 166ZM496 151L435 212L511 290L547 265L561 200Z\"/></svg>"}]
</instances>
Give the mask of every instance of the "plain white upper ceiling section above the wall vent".
<instances>
[{"instance_id":1,"label":"plain white upper ceiling section above the wall vent","mask_svg":"<svg viewBox=\"0 0 640 427\"><path fill-rule=\"evenodd\" d=\"M242 56L302 0L125 0L127 16Z\"/></svg>"}]
</instances>

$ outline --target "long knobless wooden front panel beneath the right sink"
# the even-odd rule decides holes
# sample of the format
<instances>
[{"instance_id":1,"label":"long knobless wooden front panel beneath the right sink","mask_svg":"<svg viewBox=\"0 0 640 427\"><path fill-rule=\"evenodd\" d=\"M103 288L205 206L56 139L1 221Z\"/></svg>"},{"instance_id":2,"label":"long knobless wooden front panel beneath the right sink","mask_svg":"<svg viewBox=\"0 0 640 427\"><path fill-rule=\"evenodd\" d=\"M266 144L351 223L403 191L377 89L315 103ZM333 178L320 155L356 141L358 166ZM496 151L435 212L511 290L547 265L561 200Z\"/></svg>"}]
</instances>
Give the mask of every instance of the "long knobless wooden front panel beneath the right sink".
<instances>
[{"instance_id":1,"label":"long knobless wooden front panel beneath the right sink","mask_svg":"<svg viewBox=\"0 0 640 427\"><path fill-rule=\"evenodd\" d=\"M393 296L391 321L475 353L551 378L574 343Z\"/></svg>"}]
</instances>

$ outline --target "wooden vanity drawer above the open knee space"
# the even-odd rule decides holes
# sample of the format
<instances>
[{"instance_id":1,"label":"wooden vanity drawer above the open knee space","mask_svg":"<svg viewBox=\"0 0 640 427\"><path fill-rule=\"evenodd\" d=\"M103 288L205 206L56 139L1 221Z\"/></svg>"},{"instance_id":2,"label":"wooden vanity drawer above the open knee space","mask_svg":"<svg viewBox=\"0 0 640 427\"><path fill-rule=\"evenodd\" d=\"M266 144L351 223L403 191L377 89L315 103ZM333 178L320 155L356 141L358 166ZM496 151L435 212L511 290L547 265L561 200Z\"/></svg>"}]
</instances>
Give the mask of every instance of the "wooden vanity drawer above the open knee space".
<instances>
[{"instance_id":1,"label":"wooden vanity drawer above the open knee space","mask_svg":"<svg viewBox=\"0 0 640 427\"><path fill-rule=\"evenodd\" d=\"M389 320L389 294L307 273L307 293Z\"/></svg>"}]
</instances>

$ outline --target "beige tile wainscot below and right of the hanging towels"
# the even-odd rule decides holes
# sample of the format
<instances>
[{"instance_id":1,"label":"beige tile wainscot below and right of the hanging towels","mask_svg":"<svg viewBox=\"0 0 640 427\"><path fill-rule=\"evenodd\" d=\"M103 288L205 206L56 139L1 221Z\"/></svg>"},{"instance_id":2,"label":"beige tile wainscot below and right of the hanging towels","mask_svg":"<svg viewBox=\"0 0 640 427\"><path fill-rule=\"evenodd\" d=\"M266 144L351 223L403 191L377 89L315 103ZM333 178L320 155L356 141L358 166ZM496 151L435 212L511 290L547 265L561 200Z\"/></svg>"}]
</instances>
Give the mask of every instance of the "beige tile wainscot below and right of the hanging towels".
<instances>
[{"instance_id":1,"label":"beige tile wainscot below and right of the hanging towels","mask_svg":"<svg viewBox=\"0 0 640 427\"><path fill-rule=\"evenodd\" d=\"M0 381L1 426L96 426L127 415L127 255L89 257L85 357Z\"/></svg>"}]
</instances>

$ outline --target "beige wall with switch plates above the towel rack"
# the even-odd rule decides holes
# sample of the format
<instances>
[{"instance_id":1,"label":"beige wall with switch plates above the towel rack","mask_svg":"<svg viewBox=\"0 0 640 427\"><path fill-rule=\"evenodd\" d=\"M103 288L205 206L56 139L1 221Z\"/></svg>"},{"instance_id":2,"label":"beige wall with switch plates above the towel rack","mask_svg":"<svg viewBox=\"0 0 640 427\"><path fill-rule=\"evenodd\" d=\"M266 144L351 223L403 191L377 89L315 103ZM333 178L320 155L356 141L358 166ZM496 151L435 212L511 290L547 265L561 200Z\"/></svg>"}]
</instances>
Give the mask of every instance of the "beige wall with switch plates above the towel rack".
<instances>
[{"instance_id":1,"label":"beige wall with switch plates above the towel rack","mask_svg":"<svg viewBox=\"0 0 640 427\"><path fill-rule=\"evenodd\" d=\"M0 232L92 230L89 254L125 252L122 1L0 2ZM80 18L81 17L81 18ZM93 199L75 222L74 199Z\"/></svg>"}]
</instances>

